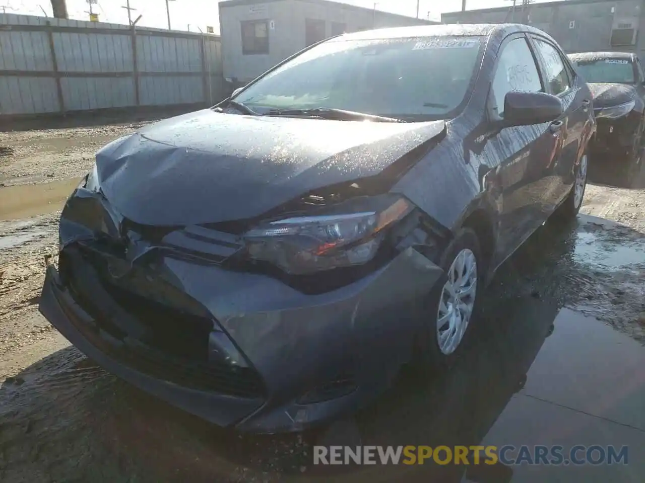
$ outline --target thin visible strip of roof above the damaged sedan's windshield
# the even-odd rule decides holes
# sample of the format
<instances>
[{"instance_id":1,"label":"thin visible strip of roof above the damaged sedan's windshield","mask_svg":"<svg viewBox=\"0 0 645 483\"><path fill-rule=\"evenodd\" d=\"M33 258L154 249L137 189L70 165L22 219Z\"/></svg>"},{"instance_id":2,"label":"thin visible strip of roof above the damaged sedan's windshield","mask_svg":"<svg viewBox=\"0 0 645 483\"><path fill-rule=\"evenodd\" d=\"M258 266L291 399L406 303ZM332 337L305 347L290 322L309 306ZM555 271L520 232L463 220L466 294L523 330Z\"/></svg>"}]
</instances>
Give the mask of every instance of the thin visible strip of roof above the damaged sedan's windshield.
<instances>
[{"instance_id":1,"label":"thin visible strip of roof above the damaged sedan's windshield","mask_svg":"<svg viewBox=\"0 0 645 483\"><path fill-rule=\"evenodd\" d=\"M537 33L551 39L550 35L546 32L542 32L542 30L533 28L529 25L514 23L438 24L377 28L375 30L363 30L362 32L344 33L336 38L342 40L381 40L403 39L407 37L442 37L458 35L493 35L503 38L506 37L506 35L515 32Z\"/></svg>"}]
</instances>

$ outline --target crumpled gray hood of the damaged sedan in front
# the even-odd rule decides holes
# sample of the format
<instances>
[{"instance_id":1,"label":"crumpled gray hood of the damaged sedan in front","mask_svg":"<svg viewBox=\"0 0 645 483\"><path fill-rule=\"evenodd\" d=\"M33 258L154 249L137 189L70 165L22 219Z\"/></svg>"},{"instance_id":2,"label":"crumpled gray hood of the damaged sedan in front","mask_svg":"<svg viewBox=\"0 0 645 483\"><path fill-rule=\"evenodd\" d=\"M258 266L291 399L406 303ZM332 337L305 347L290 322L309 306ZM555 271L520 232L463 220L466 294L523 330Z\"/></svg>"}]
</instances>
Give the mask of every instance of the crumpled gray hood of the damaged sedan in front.
<instances>
[{"instance_id":1,"label":"crumpled gray hood of the damaged sedan in front","mask_svg":"<svg viewBox=\"0 0 645 483\"><path fill-rule=\"evenodd\" d=\"M312 189L380 173L443 121L348 122L204 109L152 124L96 155L126 218L187 225L253 218Z\"/></svg>"}]
</instances>

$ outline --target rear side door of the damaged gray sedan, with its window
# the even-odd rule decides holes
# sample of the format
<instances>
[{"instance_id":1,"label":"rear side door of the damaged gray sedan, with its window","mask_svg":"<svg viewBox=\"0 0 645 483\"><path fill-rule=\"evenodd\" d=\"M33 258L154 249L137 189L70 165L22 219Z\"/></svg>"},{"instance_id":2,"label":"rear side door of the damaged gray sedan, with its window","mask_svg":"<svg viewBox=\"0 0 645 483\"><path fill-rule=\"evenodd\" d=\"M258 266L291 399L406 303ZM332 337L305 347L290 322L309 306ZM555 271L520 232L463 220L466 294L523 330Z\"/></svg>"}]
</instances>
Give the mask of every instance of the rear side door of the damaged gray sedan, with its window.
<instances>
[{"instance_id":1,"label":"rear side door of the damaged gray sedan, with its window","mask_svg":"<svg viewBox=\"0 0 645 483\"><path fill-rule=\"evenodd\" d=\"M574 167L584 147L581 141L590 116L591 95L556 44L539 35L530 37L539 55L546 91L559 97L564 108L557 123L551 126L551 129L559 129L559 155L544 166L543 203L551 214L569 194L575 181Z\"/></svg>"}]
</instances>

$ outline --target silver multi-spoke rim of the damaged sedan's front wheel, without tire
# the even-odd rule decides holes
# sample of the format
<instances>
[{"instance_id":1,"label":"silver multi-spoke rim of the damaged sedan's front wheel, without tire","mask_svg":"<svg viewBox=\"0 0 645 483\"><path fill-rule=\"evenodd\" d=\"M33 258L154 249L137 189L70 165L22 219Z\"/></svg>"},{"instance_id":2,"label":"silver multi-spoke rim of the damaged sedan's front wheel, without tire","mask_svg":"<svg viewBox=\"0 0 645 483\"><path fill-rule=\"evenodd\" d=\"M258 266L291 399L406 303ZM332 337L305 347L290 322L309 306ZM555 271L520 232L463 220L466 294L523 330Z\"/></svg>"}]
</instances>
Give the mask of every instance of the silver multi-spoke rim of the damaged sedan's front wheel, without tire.
<instances>
[{"instance_id":1,"label":"silver multi-spoke rim of the damaged sedan's front wheel, without tire","mask_svg":"<svg viewBox=\"0 0 645 483\"><path fill-rule=\"evenodd\" d=\"M437 342L445 355L461 343L475 307L477 259L469 249L460 251L448 270L437 310Z\"/></svg>"}]
</instances>

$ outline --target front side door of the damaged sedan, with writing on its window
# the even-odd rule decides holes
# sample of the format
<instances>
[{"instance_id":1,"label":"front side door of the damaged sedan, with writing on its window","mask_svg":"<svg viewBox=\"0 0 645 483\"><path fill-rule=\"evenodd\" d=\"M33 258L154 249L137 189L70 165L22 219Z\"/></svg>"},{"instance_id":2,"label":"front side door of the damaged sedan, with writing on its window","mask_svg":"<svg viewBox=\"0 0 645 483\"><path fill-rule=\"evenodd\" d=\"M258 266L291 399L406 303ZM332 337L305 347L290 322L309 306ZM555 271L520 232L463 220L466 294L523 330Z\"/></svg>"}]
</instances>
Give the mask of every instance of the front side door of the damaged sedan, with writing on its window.
<instances>
[{"instance_id":1,"label":"front side door of the damaged sedan, with writing on its window","mask_svg":"<svg viewBox=\"0 0 645 483\"><path fill-rule=\"evenodd\" d=\"M544 92L537 58L526 35L515 34L501 44L488 95L491 126L504 118L510 91ZM556 122L557 126L557 122ZM495 184L501 189L499 238L495 261L501 263L547 218L544 169L558 155L560 130L550 122L502 128L486 145L484 156L495 156Z\"/></svg>"}]
</instances>

